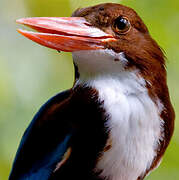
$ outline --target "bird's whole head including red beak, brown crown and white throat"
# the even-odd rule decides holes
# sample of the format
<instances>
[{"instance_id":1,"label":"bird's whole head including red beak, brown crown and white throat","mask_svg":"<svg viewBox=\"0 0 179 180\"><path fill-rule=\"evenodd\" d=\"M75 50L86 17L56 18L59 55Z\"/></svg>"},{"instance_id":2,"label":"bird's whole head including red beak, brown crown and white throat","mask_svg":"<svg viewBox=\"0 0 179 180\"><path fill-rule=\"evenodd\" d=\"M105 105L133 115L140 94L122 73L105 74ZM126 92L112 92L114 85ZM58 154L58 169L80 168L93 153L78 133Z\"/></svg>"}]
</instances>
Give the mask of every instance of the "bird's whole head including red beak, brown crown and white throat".
<instances>
[{"instance_id":1,"label":"bird's whole head including red beak, brown crown and white throat","mask_svg":"<svg viewBox=\"0 0 179 180\"><path fill-rule=\"evenodd\" d=\"M129 7L106 3L78 9L72 17L24 18L17 22L39 31L18 30L27 38L72 52L83 78L136 70L149 85L156 80L165 82L164 55Z\"/></svg>"}]
</instances>

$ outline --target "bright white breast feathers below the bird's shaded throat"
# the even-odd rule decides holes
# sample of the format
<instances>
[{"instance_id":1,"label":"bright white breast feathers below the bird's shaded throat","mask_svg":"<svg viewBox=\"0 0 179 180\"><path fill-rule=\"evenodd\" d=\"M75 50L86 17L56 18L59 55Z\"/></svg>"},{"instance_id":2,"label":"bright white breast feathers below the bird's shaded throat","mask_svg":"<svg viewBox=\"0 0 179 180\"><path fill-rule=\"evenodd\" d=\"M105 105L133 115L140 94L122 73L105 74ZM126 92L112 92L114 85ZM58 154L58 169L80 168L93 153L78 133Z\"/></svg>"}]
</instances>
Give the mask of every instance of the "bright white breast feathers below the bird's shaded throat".
<instances>
[{"instance_id":1,"label":"bright white breast feathers below the bird's shaded throat","mask_svg":"<svg viewBox=\"0 0 179 180\"><path fill-rule=\"evenodd\" d=\"M136 180L156 156L161 138L160 108L151 100L145 81L136 72L99 77L87 83L104 101L112 147L102 152L95 171L110 180Z\"/></svg>"}]
</instances>

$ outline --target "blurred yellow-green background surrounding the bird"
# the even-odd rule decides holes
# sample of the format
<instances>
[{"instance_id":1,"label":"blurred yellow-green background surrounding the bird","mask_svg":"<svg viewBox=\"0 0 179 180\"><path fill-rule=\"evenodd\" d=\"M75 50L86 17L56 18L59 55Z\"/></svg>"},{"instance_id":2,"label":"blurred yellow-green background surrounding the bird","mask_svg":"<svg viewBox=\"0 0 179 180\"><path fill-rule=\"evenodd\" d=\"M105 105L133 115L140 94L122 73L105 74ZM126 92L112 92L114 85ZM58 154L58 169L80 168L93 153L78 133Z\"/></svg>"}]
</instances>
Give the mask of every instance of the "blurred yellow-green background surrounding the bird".
<instances>
[{"instance_id":1,"label":"blurred yellow-green background surrounding the bird","mask_svg":"<svg viewBox=\"0 0 179 180\"><path fill-rule=\"evenodd\" d=\"M178 0L0 0L0 180L6 180L25 128L40 106L73 84L70 53L59 54L16 32L28 16L70 16L78 7L118 2L134 8L165 50L168 85L176 112L172 142L148 180L179 179L179 1ZM32 147L35 148L35 147Z\"/></svg>"}]
</instances>

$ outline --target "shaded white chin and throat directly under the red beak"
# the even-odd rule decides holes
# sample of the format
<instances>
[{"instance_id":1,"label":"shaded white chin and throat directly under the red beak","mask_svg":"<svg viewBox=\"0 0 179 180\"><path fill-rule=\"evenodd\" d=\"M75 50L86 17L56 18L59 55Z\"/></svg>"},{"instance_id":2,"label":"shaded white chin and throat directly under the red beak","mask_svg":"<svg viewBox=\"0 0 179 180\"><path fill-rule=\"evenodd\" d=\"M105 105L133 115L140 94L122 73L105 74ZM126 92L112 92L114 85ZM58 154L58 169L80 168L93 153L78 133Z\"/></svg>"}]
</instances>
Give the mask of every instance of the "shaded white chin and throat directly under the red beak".
<instances>
[{"instance_id":1,"label":"shaded white chin and throat directly under the red beak","mask_svg":"<svg viewBox=\"0 0 179 180\"><path fill-rule=\"evenodd\" d=\"M75 51L72 56L80 77L84 78L120 74L128 62L123 52L110 49Z\"/></svg>"}]
</instances>

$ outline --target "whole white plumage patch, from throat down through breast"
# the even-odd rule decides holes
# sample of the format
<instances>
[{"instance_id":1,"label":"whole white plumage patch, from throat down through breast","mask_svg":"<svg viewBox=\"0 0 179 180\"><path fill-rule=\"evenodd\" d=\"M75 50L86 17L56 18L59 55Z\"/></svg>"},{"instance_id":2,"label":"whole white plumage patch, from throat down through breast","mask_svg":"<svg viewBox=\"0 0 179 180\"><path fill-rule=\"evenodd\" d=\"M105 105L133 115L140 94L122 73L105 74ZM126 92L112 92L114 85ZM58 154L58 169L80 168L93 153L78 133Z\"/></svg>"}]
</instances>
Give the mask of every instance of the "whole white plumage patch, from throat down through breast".
<instances>
[{"instance_id":1,"label":"whole white plumage patch, from throat down through breast","mask_svg":"<svg viewBox=\"0 0 179 180\"><path fill-rule=\"evenodd\" d=\"M113 50L73 53L80 79L76 84L93 87L104 102L107 144L95 171L110 180L136 180L150 168L162 138L162 104L148 95L145 80L137 70L125 69L128 60L123 52ZM114 59L119 61L114 61Z\"/></svg>"}]
</instances>

